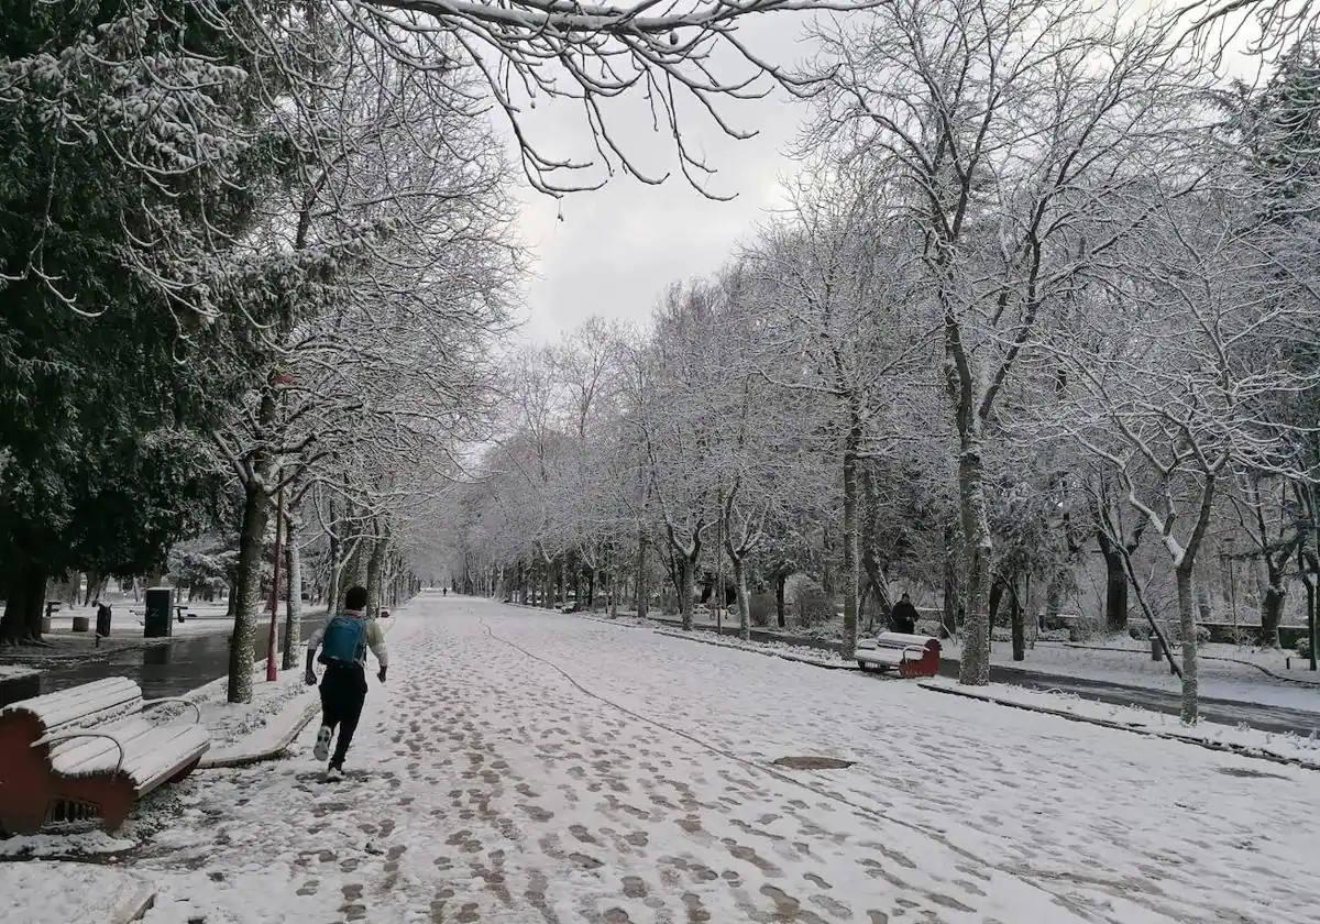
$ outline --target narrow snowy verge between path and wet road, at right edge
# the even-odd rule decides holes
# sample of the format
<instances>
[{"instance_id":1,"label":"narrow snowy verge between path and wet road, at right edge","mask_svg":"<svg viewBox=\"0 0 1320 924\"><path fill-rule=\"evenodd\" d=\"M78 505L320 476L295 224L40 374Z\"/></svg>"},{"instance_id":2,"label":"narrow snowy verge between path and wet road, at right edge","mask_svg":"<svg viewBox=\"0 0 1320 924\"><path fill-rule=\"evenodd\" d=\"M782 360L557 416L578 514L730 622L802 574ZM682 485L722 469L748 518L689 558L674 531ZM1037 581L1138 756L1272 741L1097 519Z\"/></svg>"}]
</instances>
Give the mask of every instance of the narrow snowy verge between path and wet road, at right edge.
<instances>
[{"instance_id":1,"label":"narrow snowy verge between path and wet road, at right edge","mask_svg":"<svg viewBox=\"0 0 1320 924\"><path fill-rule=\"evenodd\" d=\"M1228 726L1216 722L1200 722L1189 726L1176 715L1155 713L1135 706L1115 706L1094 700L1084 700L1072 693L1059 690L1032 690L1011 684L989 684L986 686L961 686L948 677L932 677L920 681L920 686L940 693L973 697L1003 706L1019 706L1035 711L1049 713L1093 722L1106 727L1150 734L1193 744L1204 744L1216 750L1233 751L1242 756L1266 758L1294 763L1308 770L1320 770L1320 739L1292 734L1274 734L1245 726Z\"/></svg>"}]
</instances>

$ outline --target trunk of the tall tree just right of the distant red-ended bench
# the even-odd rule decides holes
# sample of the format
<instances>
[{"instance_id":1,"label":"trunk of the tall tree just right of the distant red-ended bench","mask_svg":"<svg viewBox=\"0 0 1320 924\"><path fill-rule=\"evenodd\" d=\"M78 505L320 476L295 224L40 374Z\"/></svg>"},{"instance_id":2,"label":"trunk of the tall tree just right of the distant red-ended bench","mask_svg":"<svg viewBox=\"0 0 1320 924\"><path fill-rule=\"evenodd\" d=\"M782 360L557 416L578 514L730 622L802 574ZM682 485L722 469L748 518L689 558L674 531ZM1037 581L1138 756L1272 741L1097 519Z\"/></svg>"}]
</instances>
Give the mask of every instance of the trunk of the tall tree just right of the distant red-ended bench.
<instances>
[{"instance_id":1,"label":"trunk of the tall tree just right of the distant red-ended bench","mask_svg":"<svg viewBox=\"0 0 1320 924\"><path fill-rule=\"evenodd\" d=\"M958 499L962 508L962 535L968 545L966 624L962 631L958 682L985 686L990 682L990 614L983 595L990 582L990 556L994 546L986 513L981 441L973 436L962 437Z\"/></svg>"}]
</instances>

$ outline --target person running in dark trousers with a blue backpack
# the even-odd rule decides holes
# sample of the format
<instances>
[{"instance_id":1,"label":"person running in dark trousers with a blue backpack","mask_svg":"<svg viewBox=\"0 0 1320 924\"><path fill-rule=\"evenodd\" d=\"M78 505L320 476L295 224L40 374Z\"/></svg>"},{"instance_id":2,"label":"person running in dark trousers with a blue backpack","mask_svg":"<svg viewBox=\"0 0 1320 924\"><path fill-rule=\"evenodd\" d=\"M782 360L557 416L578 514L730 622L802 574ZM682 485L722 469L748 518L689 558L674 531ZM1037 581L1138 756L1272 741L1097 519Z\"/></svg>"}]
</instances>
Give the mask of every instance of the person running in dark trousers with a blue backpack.
<instances>
[{"instance_id":1,"label":"person running in dark trousers with a blue backpack","mask_svg":"<svg viewBox=\"0 0 1320 924\"><path fill-rule=\"evenodd\" d=\"M352 744L362 706L367 700L367 648L371 648L380 665L376 677L381 684L385 682L385 669L389 667L384 630L367 616L367 589L350 587L343 605L343 612L334 615L308 639L308 686L317 685L313 664L319 660L326 668L321 678L321 730L317 731L317 743L312 750L317 760L326 759L330 739L337 729L339 731L334 756L326 768L326 780L343 777L343 759ZM319 659L317 648L321 649Z\"/></svg>"}]
</instances>

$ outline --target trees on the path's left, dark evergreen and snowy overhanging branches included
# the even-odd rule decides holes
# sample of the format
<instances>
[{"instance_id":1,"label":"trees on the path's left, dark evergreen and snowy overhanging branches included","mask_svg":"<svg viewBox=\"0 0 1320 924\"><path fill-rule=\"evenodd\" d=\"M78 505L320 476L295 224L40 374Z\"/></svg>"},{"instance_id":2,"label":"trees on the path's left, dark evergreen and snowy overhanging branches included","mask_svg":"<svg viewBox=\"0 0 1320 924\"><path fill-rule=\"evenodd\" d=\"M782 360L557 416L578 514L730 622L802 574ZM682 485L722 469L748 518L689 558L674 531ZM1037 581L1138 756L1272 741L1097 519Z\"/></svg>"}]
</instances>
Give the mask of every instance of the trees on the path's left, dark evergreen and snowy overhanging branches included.
<instances>
[{"instance_id":1,"label":"trees on the path's left, dark evergreen and snowy overhanging branches included","mask_svg":"<svg viewBox=\"0 0 1320 924\"><path fill-rule=\"evenodd\" d=\"M661 178L605 112L644 95L700 185L680 103L738 135L715 104L775 79L739 18L812 5L7 4L0 639L40 643L53 579L158 576L211 535L232 546L230 698L247 700L272 540L293 643L304 552L331 605L354 581L378 599L484 432L519 296L486 110L562 195L620 168ZM543 148L539 99L582 107L587 154Z\"/></svg>"}]
</instances>

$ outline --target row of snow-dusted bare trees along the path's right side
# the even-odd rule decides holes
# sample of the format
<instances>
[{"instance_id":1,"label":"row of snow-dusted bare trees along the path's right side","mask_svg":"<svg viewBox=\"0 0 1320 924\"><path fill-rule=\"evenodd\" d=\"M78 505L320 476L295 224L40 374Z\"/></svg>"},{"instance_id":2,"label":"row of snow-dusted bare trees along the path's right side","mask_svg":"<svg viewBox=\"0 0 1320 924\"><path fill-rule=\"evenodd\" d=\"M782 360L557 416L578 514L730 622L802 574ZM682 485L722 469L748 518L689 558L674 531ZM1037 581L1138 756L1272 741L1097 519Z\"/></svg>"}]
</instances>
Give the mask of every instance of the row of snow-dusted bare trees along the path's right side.
<instances>
[{"instance_id":1,"label":"row of snow-dusted bare trees along the path's right side","mask_svg":"<svg viewBox=\"0 0 1320 924\"><path fill-rule=\"evenodd\" d=\"M812 570L849 644L920 576L983 684L995 612L1020 652L1094 544L1110 627L1134 591L1162 631L1167 576L1195 721L1208 543L1250 545L1267 643L1288 578L1315 618L1313 36L1261 88L1183 24L1059 0L898 0L814 40L789 207L648 329L519 358L455 568L645 611L655 552L690 627L729 562L744 631L751 585Z\"/></svg>"}]
</instances>

